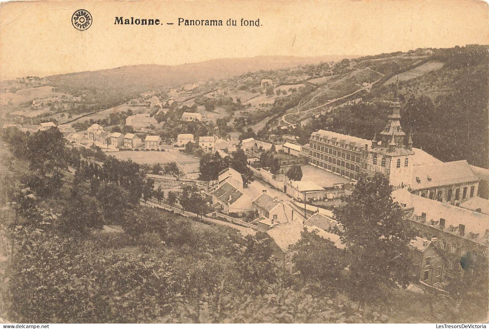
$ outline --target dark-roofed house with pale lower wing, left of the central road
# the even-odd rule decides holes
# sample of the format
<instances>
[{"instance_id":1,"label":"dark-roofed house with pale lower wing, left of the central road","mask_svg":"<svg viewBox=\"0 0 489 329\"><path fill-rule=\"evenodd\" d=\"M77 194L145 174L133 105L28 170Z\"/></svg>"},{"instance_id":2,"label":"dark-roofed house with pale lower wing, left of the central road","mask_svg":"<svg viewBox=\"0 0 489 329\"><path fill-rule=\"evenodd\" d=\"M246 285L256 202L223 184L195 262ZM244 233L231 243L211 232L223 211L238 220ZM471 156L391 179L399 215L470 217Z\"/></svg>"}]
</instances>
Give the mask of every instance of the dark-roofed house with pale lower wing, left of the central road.
<instances>
[{"instance_id":1,"label":"dark-roofed house with pale lower wing, left of the central road","mask_svg":"<svg viewBox=\"0 0 489 329\"><path fill-rule=\"evenodd\" d=\"M212 192L212 207L223 212L249 212L251 199L225 181Z\"/></svg>"}]
</instances>

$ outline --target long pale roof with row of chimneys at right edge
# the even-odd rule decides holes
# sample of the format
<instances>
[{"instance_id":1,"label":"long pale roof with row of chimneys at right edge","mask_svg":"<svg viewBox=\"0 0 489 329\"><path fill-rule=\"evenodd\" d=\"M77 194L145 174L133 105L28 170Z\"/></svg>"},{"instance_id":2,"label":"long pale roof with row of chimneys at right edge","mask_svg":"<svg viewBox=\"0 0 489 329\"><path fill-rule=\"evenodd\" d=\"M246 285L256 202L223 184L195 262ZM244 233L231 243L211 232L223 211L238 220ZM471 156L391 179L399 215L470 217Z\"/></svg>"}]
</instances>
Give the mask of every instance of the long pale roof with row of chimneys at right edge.
<instances>
[{"instance_id":1,"label":"long pale roof with row of chimneys at right edge","mask_svg":"<svg viewBox=\"0 0 489 329\"><path fill-rule=\"evenodd\" d=\"M459 235L458 227L463 224L464 235L459 236L481 244L488 242L489 236L486 232L489 230L489 215L487 214L415 195L404 188L393 191L392 198L405 210L413 210L407 215L411 220L440 229L440 218L443 218L445 219L444 232ZM425 222L422 220L423 212L426 215ZM452 232L450 226L456 229ZM474 235L471 236L470 233Z\"/></svg>"}]
</instances>

